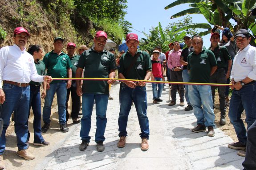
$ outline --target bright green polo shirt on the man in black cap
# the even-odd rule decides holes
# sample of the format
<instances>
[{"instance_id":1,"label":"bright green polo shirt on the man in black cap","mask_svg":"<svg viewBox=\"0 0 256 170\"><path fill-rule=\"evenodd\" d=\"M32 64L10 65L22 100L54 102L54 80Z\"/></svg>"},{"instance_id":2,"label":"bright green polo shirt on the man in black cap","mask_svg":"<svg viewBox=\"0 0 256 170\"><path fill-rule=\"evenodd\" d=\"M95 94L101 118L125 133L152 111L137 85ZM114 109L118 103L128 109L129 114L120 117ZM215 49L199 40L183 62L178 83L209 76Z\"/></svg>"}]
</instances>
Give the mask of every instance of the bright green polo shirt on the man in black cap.
<instances>
[{"instance_id":1,"label":"bright green polo shirt on the man in black cap","mask_svg":"<svg viewBox=\"0 0 256 170\"><path fill-rule=\"evenodd\" d=\"M67 69L72 68L69 56L62 52L60 55L51 51L44 56L43 62L47 68L47 75L52 78L67 78ZM61 80L53 80L51 83L57 83Z\"/></svg>"}]
</instances>

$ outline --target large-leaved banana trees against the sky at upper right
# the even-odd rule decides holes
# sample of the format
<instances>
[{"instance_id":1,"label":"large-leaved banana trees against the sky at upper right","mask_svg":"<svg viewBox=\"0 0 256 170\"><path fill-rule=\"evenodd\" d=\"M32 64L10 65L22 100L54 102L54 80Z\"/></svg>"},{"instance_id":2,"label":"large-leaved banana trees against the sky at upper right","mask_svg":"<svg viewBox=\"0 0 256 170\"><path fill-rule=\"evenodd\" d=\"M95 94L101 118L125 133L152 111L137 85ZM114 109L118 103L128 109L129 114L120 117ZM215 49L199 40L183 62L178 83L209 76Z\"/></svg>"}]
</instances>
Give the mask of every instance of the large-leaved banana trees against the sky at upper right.
<instances>
[{"instance_id":1,"label":"large-leaved banana trees against the sky at upper right","mask_svg":"<svg viewBox=\"0 0 256 170\"><path fill-rule=\"evenodd\" d=\"M199 33L200 36L204 36L210 33L211 25L220 25L230 28L232 32L245 28L251 31L252 35L256 35L255 16L252 16L252 9L256 7L256 0L177 0L165 9L179 4L190 4L189 6L192 8L176 13L171 16L171 19L188 14L202 14L208 23L187 24L175 32L187 28L207 28L207 31ZM233 19L237 24L232 25L229 22L230 19ZM252 36L252 45L256 44L255 38Z\"/></svg>"}]
</instances>

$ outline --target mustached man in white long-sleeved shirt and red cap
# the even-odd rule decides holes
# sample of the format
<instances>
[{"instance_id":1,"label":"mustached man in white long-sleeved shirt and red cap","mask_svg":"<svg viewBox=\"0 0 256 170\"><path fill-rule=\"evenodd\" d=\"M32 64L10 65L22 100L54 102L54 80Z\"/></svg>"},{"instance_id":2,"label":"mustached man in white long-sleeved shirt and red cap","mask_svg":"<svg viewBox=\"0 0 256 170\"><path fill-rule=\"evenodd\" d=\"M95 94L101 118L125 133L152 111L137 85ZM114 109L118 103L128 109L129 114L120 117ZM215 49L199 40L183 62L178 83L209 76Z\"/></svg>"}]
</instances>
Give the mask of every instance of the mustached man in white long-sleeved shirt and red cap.
<instances>
[{"instance_id":1,"label":"mustached man in white long-sleeved shirt and red cap","mask_svg":"<svg viewBox=\"0 0 256 170\"><path fill-rule=\"evenodd\" d=\"M33 56L25 48L29 33L25 28L15 28L14 45L0 49L0 118L4 120L4 129L0 137L0 169L4 169L3 154L5 149L5 133L14 112L14 126L17 137L17 155L27 160L34 159L28 152L28 109L30 99L29 82L50 82L51 76L37 74ZM2 81L4 84L2 85Z\"/></svg>"}]
</instances>

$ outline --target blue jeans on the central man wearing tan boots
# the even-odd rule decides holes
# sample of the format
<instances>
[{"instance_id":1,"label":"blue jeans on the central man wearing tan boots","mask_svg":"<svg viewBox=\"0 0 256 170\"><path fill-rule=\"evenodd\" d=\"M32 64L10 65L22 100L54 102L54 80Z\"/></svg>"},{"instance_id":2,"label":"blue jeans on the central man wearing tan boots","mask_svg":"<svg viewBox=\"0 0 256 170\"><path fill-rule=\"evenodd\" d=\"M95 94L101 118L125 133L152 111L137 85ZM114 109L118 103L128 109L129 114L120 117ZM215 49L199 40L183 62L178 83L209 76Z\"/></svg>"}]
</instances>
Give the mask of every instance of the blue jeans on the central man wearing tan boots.
<instances>
[{"instance_id":1,"label":"blue jeans on the central man wearing tan boots","mask_svg":"<svg viewBox=\"0 0 256 170\"><path fill-rule=\"evenodd\" d=\"M146 102L146 86L137 86L136 88L130 88L124 83L120 85L120 112L118 118L119 126L119 137L127 136L127 122L128 115L130 113L132 101L134 102L138 122L140 126L141 133L139 134L141 138L149 138L149 122L146 116L147 102Z\"/></svg>"}]
</instances>

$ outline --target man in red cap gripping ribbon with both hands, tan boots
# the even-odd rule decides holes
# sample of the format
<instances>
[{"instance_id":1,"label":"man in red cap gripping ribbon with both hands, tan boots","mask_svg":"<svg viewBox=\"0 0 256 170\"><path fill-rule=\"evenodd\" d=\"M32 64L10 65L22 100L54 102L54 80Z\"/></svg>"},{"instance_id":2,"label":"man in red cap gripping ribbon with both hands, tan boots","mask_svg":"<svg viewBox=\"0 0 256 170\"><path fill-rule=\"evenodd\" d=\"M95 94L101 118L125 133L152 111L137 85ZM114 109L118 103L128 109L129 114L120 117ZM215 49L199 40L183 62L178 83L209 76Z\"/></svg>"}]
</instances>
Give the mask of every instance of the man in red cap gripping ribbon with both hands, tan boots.
<instances>
[{"instance_id":1,"label":"man in red cap gripping ribbon with both hands, tan boots","mask_svg":"<svg viewBox=\"0 0 256 170\"><path fill-rule=\"evenodd\" d=\"M119 79L138 79L138 81L122 81L120 87L120 112L118 118L119 142L118 147L126 145L127 121L132 101L136 107L142 138L141 149L148 150L149 121L146 116L146 83L150 79L152 63L146 51L138 50L138 36L130 33L126 36L128 51L121 56L118 67Z\"/></svg>"}]
</instances>

